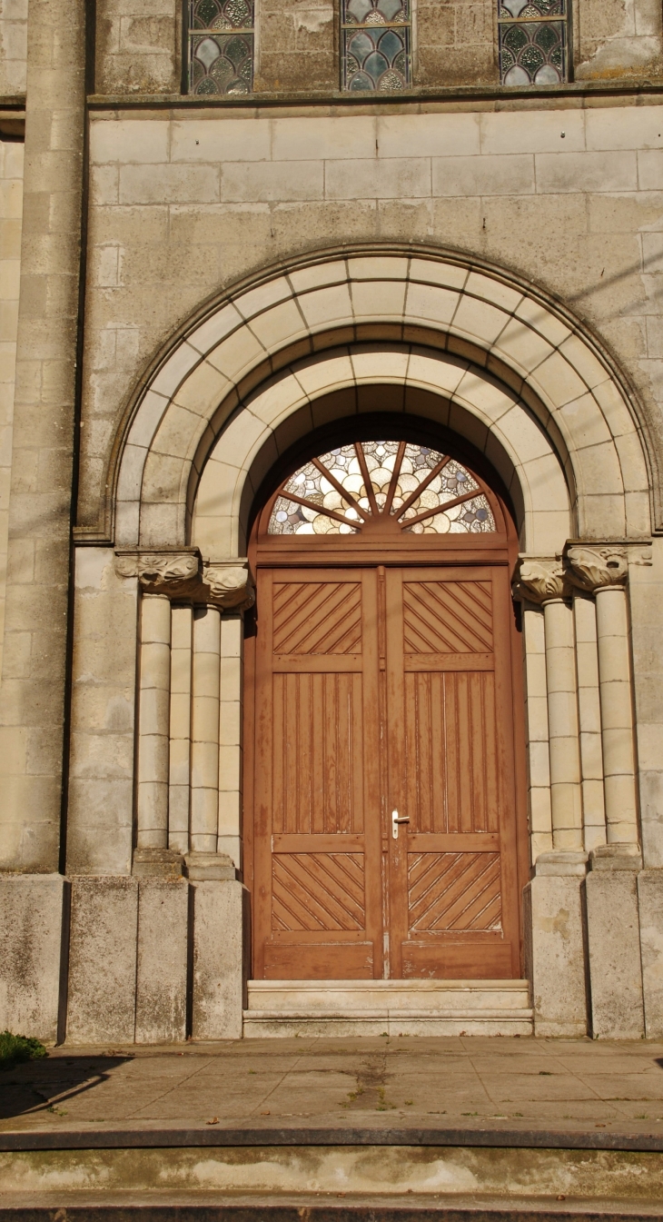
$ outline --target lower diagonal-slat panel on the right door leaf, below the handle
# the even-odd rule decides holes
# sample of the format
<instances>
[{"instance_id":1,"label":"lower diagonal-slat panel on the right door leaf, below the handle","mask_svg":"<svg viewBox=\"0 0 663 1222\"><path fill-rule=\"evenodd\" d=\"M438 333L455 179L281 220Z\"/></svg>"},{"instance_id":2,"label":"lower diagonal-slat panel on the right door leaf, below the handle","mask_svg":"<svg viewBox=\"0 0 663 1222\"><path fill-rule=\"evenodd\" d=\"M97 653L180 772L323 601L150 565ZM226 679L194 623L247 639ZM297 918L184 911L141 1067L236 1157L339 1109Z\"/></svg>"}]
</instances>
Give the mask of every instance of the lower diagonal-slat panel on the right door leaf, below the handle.
<instances>
[{"instance_id":1,"label":"lower diagonal-slat panel on the right door leaf, below the handle","mask_svg":"<svg viewBox=\"0 0 663 1222\"><path fill-rule=\"evenodd\" d=\"M414 934L502 929L499 853L408 854Z\"/></svg>"}]
</instances>

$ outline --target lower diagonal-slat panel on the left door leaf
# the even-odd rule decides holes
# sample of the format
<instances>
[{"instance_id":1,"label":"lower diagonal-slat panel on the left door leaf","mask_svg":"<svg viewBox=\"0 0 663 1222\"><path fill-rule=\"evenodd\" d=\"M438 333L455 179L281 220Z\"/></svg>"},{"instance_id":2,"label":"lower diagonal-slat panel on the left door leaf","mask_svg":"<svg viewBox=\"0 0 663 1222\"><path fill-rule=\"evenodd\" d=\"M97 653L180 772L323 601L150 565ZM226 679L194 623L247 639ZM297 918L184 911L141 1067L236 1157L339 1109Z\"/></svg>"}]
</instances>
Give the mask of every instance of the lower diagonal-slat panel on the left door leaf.
<instances>
[{"instance_id":1,"label":"lower diagonal-slat panel on the left door leaf","mask_svg":"<svg viewBox=\"0 0 663 1222\"><path fill-rule=\"evenodd\" d=\"M272 857L272 930L358 931L366 925L363 853Z\"/></svg>"}]
</instances>

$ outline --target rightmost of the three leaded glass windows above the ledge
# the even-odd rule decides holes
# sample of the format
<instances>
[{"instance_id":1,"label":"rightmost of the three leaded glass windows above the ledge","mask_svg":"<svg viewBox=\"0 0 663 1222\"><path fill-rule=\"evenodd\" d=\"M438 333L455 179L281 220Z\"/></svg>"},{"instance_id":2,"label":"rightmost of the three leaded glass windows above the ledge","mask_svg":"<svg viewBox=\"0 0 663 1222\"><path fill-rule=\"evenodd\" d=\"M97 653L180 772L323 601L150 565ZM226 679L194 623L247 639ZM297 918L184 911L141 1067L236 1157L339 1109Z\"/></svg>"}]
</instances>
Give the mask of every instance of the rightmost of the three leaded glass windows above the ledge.
<instances>
[{"instance_id":1,"label":"rightmost of the three leaded glass windows above the ledge","mask_svg":"<svg viewBox=\"0 0 663 1222\"><path fill-rule=\"evenodd\" d=\"M569 73L570 0L497 0L502 84L560 84Z\"/></svg>"}]
</instances>

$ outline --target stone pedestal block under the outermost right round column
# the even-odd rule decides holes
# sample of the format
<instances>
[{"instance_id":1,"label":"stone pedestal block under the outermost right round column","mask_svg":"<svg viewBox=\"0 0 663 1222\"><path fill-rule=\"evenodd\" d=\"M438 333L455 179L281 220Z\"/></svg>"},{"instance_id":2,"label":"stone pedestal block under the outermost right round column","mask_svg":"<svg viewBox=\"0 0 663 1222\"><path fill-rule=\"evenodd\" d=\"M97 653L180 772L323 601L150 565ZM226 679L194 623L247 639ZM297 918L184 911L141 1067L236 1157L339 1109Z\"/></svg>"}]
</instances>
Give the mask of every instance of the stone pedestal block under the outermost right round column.
<instances>
[{"instance_id":1,"label":"stone pedestal block under the outermost right round column","mask_svg":"<svg viewBox=\"0 0 663 1222\"><path fill-rule=\"evenodd\" d=\"M587 946L592 1034L637 1040L645 1034L637 848L604 844L590 854Z\"/></svg>"}]
</instances>

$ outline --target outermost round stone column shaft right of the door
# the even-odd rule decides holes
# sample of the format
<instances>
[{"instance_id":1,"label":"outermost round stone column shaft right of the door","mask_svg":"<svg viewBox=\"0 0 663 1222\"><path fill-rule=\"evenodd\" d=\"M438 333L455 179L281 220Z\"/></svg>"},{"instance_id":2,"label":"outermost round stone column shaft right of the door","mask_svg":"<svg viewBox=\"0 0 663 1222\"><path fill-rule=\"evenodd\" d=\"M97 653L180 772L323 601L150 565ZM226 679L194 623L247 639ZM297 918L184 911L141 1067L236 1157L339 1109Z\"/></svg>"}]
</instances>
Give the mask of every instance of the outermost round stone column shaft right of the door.
<instances>
[{"instance_id":1,"label":"outermost round stone column shaft right of the door","mask_svg":"<svg viewBox=\"0 0 663 1222\"><path fill-rule=\"evenodd\" d=\"M626 591L596 593L598 682L608 844L637 844L631 667Z\"/></svg>"}]
</instances>

